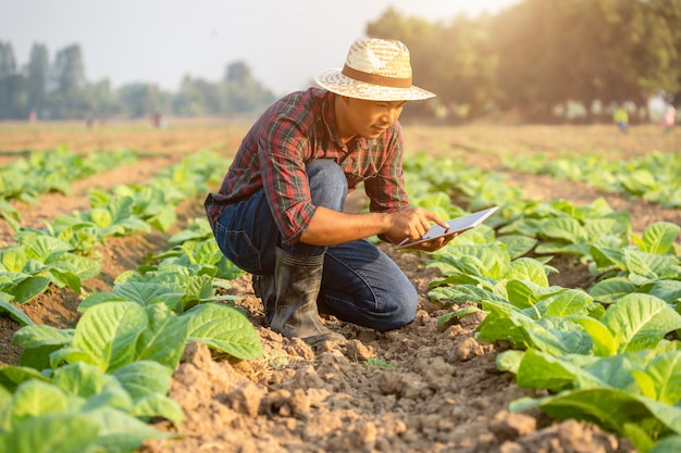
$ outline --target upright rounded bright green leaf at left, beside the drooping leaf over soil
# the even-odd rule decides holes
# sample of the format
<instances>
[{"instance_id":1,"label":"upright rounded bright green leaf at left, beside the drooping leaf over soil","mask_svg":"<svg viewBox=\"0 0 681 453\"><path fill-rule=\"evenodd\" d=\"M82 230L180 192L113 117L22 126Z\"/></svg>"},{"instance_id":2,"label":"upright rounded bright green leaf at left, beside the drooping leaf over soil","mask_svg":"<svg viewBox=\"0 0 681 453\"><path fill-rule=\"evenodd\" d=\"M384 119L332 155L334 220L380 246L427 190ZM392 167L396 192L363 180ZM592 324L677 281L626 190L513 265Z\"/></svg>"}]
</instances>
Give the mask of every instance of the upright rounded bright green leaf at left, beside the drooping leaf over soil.
<instances>
[{"instance_id":1,"label":"upright rounded bright green leaf at left, beside the drooping leaf over soil","mask_svg":"<svg viewBox=\"0 0 681 453\"><path fill-rule=\"evenodd\" d=\"M95 357L100 369L114 370L135 360L137 338L147 328L145 310L134 302L108 302L87 310L72 347Z\"/></svg>"}]
</instances>

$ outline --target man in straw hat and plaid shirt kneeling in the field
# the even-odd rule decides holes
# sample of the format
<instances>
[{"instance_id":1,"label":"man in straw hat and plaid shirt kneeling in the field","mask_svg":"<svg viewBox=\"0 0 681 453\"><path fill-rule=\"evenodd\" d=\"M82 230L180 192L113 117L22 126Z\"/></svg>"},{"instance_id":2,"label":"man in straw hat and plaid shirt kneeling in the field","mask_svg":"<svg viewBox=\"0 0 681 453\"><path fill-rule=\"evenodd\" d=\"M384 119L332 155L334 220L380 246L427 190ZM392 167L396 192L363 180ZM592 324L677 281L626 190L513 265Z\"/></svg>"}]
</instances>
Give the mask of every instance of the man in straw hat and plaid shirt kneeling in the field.
<instances>
[{"instance_id":1,"label":"man in straw hat and plaid shirt kneeling in the field","mask_svg":"<svg viewBox=\"0 0 681 453\"><path fill-rule=\"evenodd\" d=\"M319 312L380 331L409 324L418 294L399 267L366 238L418 239L436 214L410 207L397 118L407 101L435 95L411 85L399 41L352 43L323 87L270 106L244 138L206 211L222 252L253 275L265 325L308 343L342 340ZM344 212L360 183L370 212ZM453 236L420 246L433 251Z\"/></svg>"}]
</instances>

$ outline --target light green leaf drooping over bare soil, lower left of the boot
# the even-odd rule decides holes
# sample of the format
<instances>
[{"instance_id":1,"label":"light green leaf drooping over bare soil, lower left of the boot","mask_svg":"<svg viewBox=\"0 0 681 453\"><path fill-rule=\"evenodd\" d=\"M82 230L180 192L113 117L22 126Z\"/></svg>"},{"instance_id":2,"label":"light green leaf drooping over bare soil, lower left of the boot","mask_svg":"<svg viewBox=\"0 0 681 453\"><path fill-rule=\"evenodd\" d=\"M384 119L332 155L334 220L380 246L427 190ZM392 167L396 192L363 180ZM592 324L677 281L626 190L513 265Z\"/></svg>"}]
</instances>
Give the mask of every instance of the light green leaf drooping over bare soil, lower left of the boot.
<instances>
[{"instance_id":1,"label":"light green leaf drooping over bare soil, lower left of the boot","mask_svg":"<svg viewBox=\"0 0 681 453\"><path fill-rule=\"evenodd\" d=\"M237 358L262 355L262 343L248 318L226 305L197 305L183 316L188 318L187 340L200 341Z\"/></svg>"}]
</instances>

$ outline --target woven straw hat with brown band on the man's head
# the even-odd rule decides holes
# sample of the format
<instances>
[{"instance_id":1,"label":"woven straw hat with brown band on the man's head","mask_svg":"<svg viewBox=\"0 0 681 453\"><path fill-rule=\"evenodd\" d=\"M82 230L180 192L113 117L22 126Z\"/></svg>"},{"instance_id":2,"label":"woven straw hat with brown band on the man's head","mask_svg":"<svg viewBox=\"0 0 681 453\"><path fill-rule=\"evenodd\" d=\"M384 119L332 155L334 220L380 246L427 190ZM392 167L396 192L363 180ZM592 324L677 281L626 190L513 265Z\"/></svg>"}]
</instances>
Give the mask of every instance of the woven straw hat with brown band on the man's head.
<instances>
[{"instance_id":1,"label":"woven straw hat with brown band on the man's head","mask_svg":"<svg viewBox=\"0 0 681 453\"><path fill-rule=\"evenodd\" d=\"M322 71L314 81L336 95L369 101L419 101L435 97L411 85L409 50L396 40L352 42L343 70Z\"/></svg>"}]
</instances>

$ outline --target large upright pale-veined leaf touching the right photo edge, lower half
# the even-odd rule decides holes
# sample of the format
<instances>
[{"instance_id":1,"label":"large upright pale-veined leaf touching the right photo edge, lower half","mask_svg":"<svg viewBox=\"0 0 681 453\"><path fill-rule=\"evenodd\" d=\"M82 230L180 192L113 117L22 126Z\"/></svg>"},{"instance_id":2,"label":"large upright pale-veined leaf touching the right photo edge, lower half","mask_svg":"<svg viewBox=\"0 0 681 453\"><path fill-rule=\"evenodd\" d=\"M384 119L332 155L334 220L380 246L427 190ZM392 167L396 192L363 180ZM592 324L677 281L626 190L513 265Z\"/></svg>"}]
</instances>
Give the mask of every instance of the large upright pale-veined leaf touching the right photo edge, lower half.
<instances>
[{"instance_id":1,"label":"large upright pale-veined leaf touching the right photo edge, lower half","mask_svg":"<svg viewBox=\"0 0 681 453\"><path fill-rule=\"evenodd\" d=\"M632 293L610 305L602 322L620 336L618 352L654 349L665 335L681 328L681 315L665 301Z\"/></svg>"}]
</instances>

